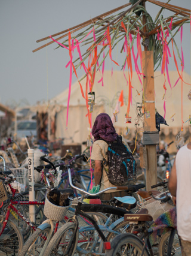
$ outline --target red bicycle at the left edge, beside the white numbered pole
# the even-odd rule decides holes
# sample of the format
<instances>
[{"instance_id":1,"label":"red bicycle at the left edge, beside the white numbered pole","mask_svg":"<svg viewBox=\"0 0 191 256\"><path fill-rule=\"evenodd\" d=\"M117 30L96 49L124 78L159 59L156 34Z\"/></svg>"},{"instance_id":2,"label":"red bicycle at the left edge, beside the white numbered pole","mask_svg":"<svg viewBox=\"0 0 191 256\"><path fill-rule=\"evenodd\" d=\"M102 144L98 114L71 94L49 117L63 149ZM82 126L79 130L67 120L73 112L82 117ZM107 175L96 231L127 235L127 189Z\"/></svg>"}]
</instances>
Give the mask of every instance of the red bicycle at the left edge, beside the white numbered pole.
<instances>
[{"instance_id":1,"label":"red bicycle at the left edge, beside the white numbered pole","mask_svg":"<svg viewBox=\"0 0 191 256\"><path fill-rule=\"evenodd\" d=\"M5 167L6 168L6 167ZM4 208L1 208L1 230L0 230L0 251L6 252L6 253L13 253L13 252L19 252L21 248L23 247L23 237L26 239L31 230L36 230L36 224L30 222L26 216L23 215L23 209L21 208L21 211L16 209L15 205L17 206L30 206L30 205L42 205L44 204L44 201L16 201L18 194L16 194L17 189L14 189L11 185L11 182L15 180L13 176L10 176L11 171L0 171L0 180L1 182L1 203L4 202ZM45 174L45 179L47 180L48 188L51 188L50 182L48 180L48 176L50 173ZM2 177L3 176L3 177ZM7 189L5 189L5 186ZM10 188L10 191L12 192L12 195L8 197L8 188ZM28 191L19 193L19 196L28 194ZM4 195L4 196L2 196ZM1 204L2 207L2 204ZM10 214L11 213L11 214ZM23 235L21 234L21 231L19 230L19 227L16 226L16 224L10 220L12 216L12 219L18 221L18 219L23 222L21 222L20 228L21 231L23 231ZM23 225L23 223L26 223L27 225ZM29 228L26 228L29 227ZM11 229L10 229L11 227ZM11 230L11 233L8 231ZM13 232L14 230L14 232ZM6 235L5 235L6 234ZM10 234L10 235L9 235Z\"/></svg>"}]
</instances>

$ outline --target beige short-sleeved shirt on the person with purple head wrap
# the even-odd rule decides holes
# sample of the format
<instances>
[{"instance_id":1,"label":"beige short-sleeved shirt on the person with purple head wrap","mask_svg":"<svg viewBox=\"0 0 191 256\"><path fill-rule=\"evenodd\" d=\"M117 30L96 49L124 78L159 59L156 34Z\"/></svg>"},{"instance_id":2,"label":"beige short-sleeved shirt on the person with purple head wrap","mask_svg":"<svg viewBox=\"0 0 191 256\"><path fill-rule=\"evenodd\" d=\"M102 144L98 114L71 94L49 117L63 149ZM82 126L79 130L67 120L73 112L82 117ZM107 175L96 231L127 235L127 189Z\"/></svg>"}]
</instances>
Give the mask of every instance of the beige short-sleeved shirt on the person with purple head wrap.
<instances>
[{"instance_id":1,"label":"beige short-sleeved shirt on the person with purple head wrap","mask_svg":"<svg viewBox=\"0 0 191 256\"><path fill-rule=\"evenodd\" d=\"M130 152L131 152L131 149L128 146L127 141L123 137L122 137L122 142L125 144L125 146L127 146L128 150L130 150ZM108 144L107 144L106 141L104 141L104 140L94 141L92 152L91 152L91 159L92 160L100 160L100 161L103 161L104 159L106 159L106 161L107 161L107 149L108 149ZM104 164L104 161L103 161L103 164ZM105 189L105 188L110 188L112 186L115 186L115 185L113 185L112 183L109 182L109 179L107 177L107 173L104 169L107 170L108 165L104 165L104 168L102 169L100 191ZM109 191L106 191L106 193L107 192L112 193L112 192L116 192L116 190L111 189Z\"/></svg>"}]
</instances>

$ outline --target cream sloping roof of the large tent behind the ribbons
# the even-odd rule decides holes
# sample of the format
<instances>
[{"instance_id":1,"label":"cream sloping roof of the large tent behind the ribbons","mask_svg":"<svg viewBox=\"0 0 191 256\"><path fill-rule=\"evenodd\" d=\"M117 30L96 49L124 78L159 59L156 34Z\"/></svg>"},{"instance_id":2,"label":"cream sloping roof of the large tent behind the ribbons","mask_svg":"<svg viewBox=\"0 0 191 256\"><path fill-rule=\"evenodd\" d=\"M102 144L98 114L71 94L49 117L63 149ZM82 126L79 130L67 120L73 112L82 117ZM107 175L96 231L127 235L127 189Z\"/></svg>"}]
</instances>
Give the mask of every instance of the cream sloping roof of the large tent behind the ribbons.
<instances>
[{"instance_id":1,"label":"cream sloping roof of the large tent behind the ribbons","mask_svg":"<svg viewBox=\"0 0 191 256\"><path fill-rule=\"evenodd\" d=\"M125 73L127 76L127 73ZM127 76L128 77L128 76ZM167 74L165 75L167 79ZM170 127L181 127L181 80L179 79L177 85L173 88L175 85L175 82L177 82L178 79L178 73L177 71L169 71L169 77L172 89L170 88L170 85L168 84L168 81L166 82L167 87L167 96L165 101L165 108L166 108L166 115L165 119L167 121L167 124L170 125ZM128 102L128 86L127 82L124 77L124 73L122 71L113 71L113 75L111 71L104 71L103 76L103 83L104 86L101 86L101 82L98 83L98 81L101 79L101 74L99 72L96 73L95 82L93 91L96 95L96 104L103 104L105 106L106 112L112 116L113 110L115 109L117 99L119 97L119 93L121 90L124 90L124 106L120 108L120 112L118 115L118 126L125 127L126 124L124 124L124 116L127 111L127 102ZM162 100L164 95L164 75L161 74L161 71L156 71L154 74L155 79L155 107L158 111L158 113L161 116L164 116L165 110L164 110L164 100ZM191 83L191 77L187 73L183 73L183 80L186 83ZM85 90L85 82L86 79L82 80L81 85ZM142 86L140 83L140 80L138 79L137 74L135 71L133 72L133 80L132 80L132 106L130 107L130 116L132 116L132 124L131 126L134 126L134 119L136 118L136 103L141 103L142 101ZM190 91L190 85L186 85L183 83L183 121L187 121L189 119L189 115L191 115L191 101L188 99L187 94ZM68 91L69 89L66 89L65 91L61 92L61 94L54 97L51 101L56 102L58 104L62 104L63 106L67 106L67 98L68 98ZM137 94L137 91L140 93L140 95ZM84 91L85 92L85 91ZM70 95L70 106L77 106L77 105L85 105L85 100L81 95L81 90L78 81L73 83L71 95ZM111 106L111 107L110 107ZM174 115L175 114L175 115ZM174 122L171 121L171 116L174 115Z\"/></svg>"}]
</instances>

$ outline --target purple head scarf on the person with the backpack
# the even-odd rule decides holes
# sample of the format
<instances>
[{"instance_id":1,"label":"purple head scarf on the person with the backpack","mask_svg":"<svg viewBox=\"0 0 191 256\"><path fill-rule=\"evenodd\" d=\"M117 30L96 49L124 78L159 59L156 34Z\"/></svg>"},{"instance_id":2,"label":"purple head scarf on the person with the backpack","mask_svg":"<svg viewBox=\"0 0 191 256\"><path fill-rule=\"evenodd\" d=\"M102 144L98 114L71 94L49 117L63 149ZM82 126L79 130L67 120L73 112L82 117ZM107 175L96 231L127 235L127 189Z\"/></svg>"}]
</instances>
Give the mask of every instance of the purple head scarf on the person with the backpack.
<instances>
[{"instance_id":1,"label":"purple head scarf on the person with the backpack","mask_svg":"<svg viewBox=\"0 0 191 256\"><path fill-rule=\"evenodd\" d=\"M118 134L113 127L113 123L109 115L101 113L97 116L92 128L92 135L94 136L94 141L100 140L100 138L109 142L116 140Z\"/></svg>"}]
</instances>

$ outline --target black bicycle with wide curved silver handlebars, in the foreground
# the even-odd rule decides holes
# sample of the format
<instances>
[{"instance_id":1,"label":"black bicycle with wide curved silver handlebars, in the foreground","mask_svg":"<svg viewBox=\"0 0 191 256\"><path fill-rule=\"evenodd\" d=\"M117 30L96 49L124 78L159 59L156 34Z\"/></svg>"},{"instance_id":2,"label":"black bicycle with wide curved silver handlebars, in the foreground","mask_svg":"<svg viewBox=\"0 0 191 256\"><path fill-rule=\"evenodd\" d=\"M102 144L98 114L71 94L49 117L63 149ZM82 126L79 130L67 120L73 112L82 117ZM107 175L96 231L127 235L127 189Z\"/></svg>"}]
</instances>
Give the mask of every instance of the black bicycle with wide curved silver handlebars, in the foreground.
<instances>
[{"instance_id":1,"label":"black bicycle with wide curved silver handlebars, in the foreground","mask_svg":"<svg viewBox=\"0 0 191 256\"><path fill-rule=\"evenodd\" d=\"M70 167L69 165L67 165L67 170L69 173L69 181L70 181L70 186L72 186L72 188L75 188L75 186L73 186L72 184L72 177L70 174ZM82 248L80 248L78 245L78 243L80 243L80 236L79 233L81 232L80 229L78 229L79 224L78 224L78 219L77 216L81 215L84 218L88 219L88 221L90 221L90 223L93 225L93 230L96 230L98 233L98 236L101 237L101 242L105 242L107 240L107 235L108 232L109 233L119 233L112 230L112 228L104 228L104 227L99 227L96 223L96 221L94 221L93 218L91 218L91 216L88 216L86 213L88 211L93 211L93 212L103 212L103 213L112 213L115 215L119 215L119 216L124 216L125 213L127 213L127 210L118 208L118 207L114 207L114 206L107 206L107 205L103 205L103 204L82 204L82 200L84 199L85 194L90 195L91 197L95 198L97 197L97 195L101 194L102 192L105 192L109 189L113 189L113 188L107 188L104 189L103 191L97 192L96 194L90 194L87 191L84 191L83 189L79 189L82 192L82 197L78 202L78 205L76 207L75 210L75 215L72 216L72 218L69 218L66 222L66 224L64 224L58 231L56 234L54 234L53 238L50 240L50 243L47 247L47 249L44 252L44 255L50 255L51 252L55 255L59 255L59 253L62 253L63 255L73 255L76 251L76 248L78 250L79 253L86 254L86 255L92 255L92 249L94 249L94 255L101 255L102 253L102 249L101 246L98 246L97 250L95 249L97 246L98 241L94 241L93 245L91 246L91 251L90 250L85 250ZM114 189L128 189L128 186L125 187L118 187L118 188L114 188ZM135 198L134 198L135 200ZM124 221L124 219L121 219L120 221ZM123 225L127 225L127 222L123 222ZM103 231L106 231L106 233L104 233ZM69 239L68 239L69 238ZM73 241L73 242L71 242ZM59 248L61 247L61 251L59 250ZM93 248L94 247L94 248ZM88 249L88 248L87 248ZM51 254L52 255L52 254ZM104 254L103 254L104 255Z\"/></svg>"}]
</instances>

